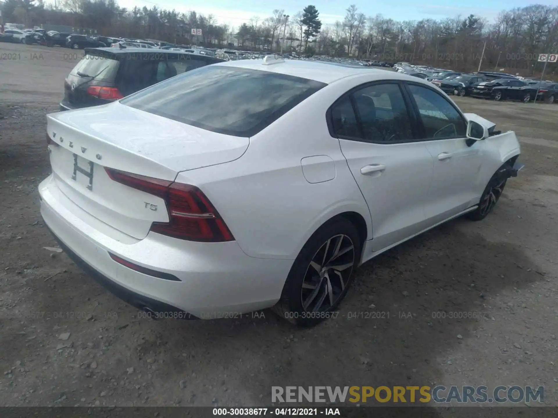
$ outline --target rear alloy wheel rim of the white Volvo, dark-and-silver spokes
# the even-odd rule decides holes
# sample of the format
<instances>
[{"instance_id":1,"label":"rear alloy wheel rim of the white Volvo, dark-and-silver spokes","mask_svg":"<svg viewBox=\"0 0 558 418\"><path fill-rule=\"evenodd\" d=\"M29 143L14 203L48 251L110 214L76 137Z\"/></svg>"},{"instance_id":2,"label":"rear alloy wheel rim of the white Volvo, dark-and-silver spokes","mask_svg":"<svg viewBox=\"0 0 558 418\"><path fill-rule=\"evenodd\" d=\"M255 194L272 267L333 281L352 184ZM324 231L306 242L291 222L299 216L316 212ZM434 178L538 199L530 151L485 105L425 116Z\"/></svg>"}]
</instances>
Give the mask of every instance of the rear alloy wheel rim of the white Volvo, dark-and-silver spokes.
<instances>
[{"instance_id":1,"label":"rear alloy wheel rim of the white Volvo, dark-and-silver spokes","mask_svg":"<svg viewBox=\"0 0 558 418\"><path fill-rule=\"evenodd\" d=\"M349 236L340 234L324 242L302 280L301 302L306 312L325 312L339 300L355 264Z\"/></svg>"}]
</instances>

